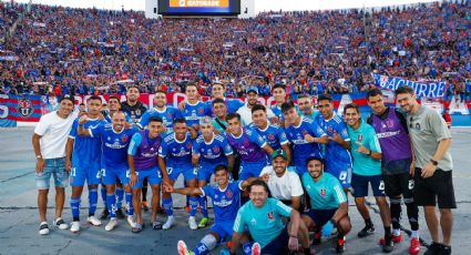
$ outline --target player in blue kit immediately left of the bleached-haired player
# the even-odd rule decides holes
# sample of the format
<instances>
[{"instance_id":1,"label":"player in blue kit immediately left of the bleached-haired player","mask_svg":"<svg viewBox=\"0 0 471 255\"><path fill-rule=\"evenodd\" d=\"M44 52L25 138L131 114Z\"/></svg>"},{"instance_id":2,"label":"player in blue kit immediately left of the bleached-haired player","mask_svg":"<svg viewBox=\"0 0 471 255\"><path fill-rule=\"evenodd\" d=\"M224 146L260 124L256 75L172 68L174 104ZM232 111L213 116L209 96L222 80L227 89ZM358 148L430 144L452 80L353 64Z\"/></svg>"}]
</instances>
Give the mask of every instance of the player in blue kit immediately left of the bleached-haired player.
<instances>
[{"instance_id":1,"label":"player in blue kit immediately left of the bleached-haired player","mask_svg":"<svg viewBox=\"0 0 471 255\"><path fill-rule=\"evenodd\" d=\"M196 169L192 165L192 139L186 121L183 118L174 120L174 132L164 137L158 149L158 165L162 171L164 184L172 185L183 174L187 187L196 187ZM162 226L163 230L170 230L175 220L173 216L173 201L170 193L163 194L163 206L167 213L167 221ZM190 197L190 218L188 225L192 231L198 228L196 225L196 210L198 200L195 196Z\"/></svg>"}]
</instances>

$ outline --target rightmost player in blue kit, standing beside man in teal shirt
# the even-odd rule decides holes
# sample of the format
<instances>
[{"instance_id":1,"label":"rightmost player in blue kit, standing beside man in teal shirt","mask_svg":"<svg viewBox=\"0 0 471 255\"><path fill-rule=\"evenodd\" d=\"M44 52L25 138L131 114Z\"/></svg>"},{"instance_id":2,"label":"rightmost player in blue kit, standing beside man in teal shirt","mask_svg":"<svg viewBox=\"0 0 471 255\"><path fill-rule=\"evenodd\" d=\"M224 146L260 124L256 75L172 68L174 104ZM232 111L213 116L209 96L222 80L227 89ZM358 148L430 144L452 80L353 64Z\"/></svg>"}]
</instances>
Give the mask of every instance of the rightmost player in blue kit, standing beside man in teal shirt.
<instances>
[{"instance_id":1,"label":"rightmost player in blue kit, standing beside man in teal shirt","mask_svg":"<svg viewBox=\"0 0 471 255\"><path fill-rule=\"evenodd\" d=\"M326 146L325 170L340 181L344 191L347 193L351 178L351 155L348 151L350 137L348 136L347 124L340 115L334 112L334 102L330 95L319 95L317 104L320 114L315 118L315 121L329 137Z\"/></svg>"}]
</instances>

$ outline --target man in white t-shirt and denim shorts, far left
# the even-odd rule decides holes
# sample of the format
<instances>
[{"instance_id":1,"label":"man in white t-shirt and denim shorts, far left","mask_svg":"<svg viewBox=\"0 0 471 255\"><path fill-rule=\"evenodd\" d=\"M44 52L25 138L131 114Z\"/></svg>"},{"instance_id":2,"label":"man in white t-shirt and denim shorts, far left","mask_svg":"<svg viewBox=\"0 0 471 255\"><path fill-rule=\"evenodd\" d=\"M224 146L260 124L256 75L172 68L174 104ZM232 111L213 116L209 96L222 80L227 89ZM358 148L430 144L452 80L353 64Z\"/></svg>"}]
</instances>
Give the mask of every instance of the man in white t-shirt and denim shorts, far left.
<instances>
[{"instance_id":1,"label":"man in white t-shirt and denim shorts, far left","mask_svg":"<svg viewBox=\"0 0 471 255\"><path fill-rule=\"evenodd\" d=\"M54 177L55 220L53 225L66 230L69 225L62 220L65 200L65 187L69 171L65 169L65 145L76 113L73 113L73 99L64 96L57 111L44 114L39 120L32 136L32 145L37 159L35 185L38 187L39 234L49 234L45 213L48 208L49 181Z\"/></svg>"}]
</instances>

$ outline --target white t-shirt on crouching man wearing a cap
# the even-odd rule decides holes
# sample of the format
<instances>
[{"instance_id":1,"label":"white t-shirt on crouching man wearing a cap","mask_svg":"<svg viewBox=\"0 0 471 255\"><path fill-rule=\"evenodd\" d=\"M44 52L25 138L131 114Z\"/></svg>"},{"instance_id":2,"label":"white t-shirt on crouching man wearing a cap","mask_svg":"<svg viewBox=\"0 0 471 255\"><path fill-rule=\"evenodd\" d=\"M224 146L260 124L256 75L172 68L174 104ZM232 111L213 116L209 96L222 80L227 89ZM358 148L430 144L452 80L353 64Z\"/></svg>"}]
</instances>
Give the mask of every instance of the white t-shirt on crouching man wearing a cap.
<instances>
[{"instance_id":1,"label":"white t-shirt on crouching man wearing a cap","mask_svg":"<svg viewBox=\"0 0 471 255\"><path fill-rule=\"evenodd\" d=\"M267 184L273 197L290 201L293 196L301 196L304 194L299 175L289 169L286 170L281 177L276 175L272 165L265 166L260 176L265 173L269 174Z\"/></svg>"}]
</instances>

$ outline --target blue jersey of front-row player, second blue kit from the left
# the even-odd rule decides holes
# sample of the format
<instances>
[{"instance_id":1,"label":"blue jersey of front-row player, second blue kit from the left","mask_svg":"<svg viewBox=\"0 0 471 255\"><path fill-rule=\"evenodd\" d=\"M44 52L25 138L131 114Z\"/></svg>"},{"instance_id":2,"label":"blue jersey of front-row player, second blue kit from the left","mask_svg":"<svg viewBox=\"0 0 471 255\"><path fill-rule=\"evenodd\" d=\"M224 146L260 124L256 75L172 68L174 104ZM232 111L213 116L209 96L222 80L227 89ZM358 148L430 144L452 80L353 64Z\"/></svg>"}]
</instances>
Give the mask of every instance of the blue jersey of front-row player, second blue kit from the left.
<instances>
[{"instance_id":1,"label":"blue jersey of front-row player, second blue kit from the left","mask_svg":"<svg viewBox=\"0 0 471 255\"><path fill-rule=\"evenodd\" d=\"M102 166L106 170L127 170L127 146L133 134L139 132L136 128L115 132L112 124L105 124L90 129L89 132L92 137L102 141Z\"/></svg>"}]
</instances>

